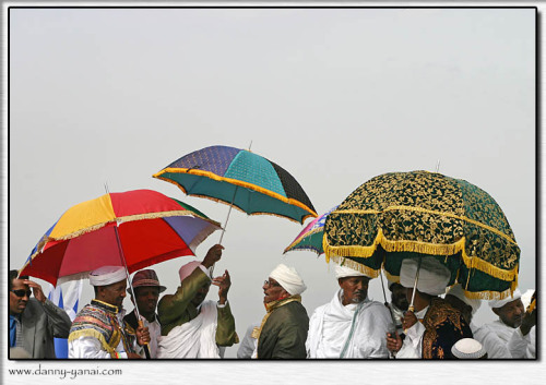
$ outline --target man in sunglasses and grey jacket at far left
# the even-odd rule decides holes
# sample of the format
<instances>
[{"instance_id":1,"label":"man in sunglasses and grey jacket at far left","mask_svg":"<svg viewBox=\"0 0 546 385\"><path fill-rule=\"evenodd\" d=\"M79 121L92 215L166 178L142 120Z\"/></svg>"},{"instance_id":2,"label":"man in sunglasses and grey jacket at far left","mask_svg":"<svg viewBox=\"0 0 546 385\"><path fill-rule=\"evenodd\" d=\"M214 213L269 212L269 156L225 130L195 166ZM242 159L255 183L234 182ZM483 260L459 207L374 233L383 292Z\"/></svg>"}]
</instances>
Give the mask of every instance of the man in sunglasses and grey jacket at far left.
<instances>
[{"instance_id":1,"label":"man in sunglasses and grey jacket at far left","mask_svg":"<svg viewBox=\"0 0 546 385\"><path fill-rule=\"evenodd\" d=\"M72 324L67 312L27 276L17 278L17 270L10 270L9 289L10 348L22 348L34 359L55 359L54 337L67 338Z\"/></svg>"}]
</instances>

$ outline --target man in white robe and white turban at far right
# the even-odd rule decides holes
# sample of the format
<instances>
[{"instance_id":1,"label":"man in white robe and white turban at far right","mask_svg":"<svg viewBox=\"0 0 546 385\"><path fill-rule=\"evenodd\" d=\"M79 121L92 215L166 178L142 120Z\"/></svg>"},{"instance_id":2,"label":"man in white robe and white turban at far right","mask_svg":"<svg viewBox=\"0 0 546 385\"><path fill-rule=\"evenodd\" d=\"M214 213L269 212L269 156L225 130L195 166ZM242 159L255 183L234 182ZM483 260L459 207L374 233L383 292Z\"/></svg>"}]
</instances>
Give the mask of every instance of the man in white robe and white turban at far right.
<instances>
[{"instance_id":1,"label":"man in white robe and white turban at far right","mask_svg":"<svg viewBox=\"0 0 546 385\"><path fill-rule=\"evenodd\" d=\"M491 359L536 358L536 310L525 312L521 292L515 289L512 297L489 301L492 312L499 316L479 327L474 338L487 350Z\"/></svg>"}]
</instances>

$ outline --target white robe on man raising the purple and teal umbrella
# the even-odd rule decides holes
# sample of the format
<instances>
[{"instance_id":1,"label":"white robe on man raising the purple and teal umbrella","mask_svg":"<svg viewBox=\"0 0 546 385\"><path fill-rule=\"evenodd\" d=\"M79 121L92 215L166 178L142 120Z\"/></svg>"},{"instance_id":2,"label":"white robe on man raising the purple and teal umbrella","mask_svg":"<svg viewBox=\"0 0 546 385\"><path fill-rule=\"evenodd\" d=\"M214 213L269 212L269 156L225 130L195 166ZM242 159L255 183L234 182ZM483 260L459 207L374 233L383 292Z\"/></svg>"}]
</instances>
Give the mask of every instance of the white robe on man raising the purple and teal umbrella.
<instances>
[{"instance_id":1,"label":"white robe on man raising the purple and teal umbrella","mask_svg":"<svg viewBox=\"0 0 546 385\"><path fill-rule=\"evenodd\" d=\"M215 301L204 301L199 315L175 326L157 341L157 358L221 358L216 345L218 311Z\"/></svg>"}]
</instances>

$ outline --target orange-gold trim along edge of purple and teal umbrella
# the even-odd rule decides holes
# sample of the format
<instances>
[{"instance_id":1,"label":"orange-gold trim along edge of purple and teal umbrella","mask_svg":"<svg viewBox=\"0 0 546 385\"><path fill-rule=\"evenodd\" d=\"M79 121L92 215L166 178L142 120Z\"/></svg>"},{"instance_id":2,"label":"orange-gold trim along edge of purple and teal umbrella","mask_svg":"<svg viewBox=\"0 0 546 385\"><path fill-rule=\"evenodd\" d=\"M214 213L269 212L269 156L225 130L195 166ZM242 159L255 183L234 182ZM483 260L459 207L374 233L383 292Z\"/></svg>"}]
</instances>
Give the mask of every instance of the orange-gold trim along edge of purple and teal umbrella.
<instances>
[{"instance_id":1,"label":"orange-gold trim along edge of purple and teal umbrella","mask_svg":"<svg viewBox=\"0 0 546 385\"><path fill-rule=\"evenodd\" d=\"M165 177L161 177L163 173L166 173L166 172L190 173L190 175L194 175L194 176L198 176L198 177L210 178L210 179L216 180L218 182L227 182L227 183L230 183L230 184L234 184L234 185L239 185L241 188L246 188L246 189L250 189L250 190L257 191L259 193L262 193L264 195L274 197L274 198L276 198L276 200L281 201L281 202L287 203L289 205L297 206L297 207L299 207L301 209L305 209L306 212L310 213L309 215L306 215L304 217L302 221L307 217L309 217L309 216L311 216L313 218L316 218L316 217L319 216L317 213L314 213L314 210L312 210L311 208L307 207L304 203L301 203L299 201L296 201L296 200L294 200L292 197L283 196L283 195L278 194L276 192L271 191L271 190L266 190L266 189L263 189L263 188L261 188L259 185L256 185L256 184L252 184L252 183L248 183L248 182L244 182L244 181L240 181L238 179L219 177L219 176L215 175L214 172L210 172L210 171L203 171L203 170L199 170L199 169L188 169L188 168L165 168L165 169L161 170L159 172L154 173L152 177L168 181L168 179L166 179ZM175 181L171 181L171 182L174 184L178 185L186 194L188 194L188 192L186 191L186 189L183 189L178 182L175 182Z\"/></svg>"}]
</instances>

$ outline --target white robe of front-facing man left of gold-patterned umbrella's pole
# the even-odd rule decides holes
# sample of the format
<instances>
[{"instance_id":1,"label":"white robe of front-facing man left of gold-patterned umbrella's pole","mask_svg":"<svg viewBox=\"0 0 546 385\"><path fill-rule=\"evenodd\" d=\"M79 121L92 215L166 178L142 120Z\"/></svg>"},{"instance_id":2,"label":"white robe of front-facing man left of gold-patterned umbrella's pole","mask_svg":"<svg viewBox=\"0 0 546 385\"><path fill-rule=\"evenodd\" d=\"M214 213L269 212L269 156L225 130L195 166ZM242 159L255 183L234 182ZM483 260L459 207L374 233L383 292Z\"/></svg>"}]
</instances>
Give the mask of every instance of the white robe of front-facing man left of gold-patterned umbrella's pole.
<instances>
[{"instance_id":1,"label":"white robe of front-facing man left of gold-patterned umbrella's pole","mask_svg":"<svg viewBox=\"0 0 546 385\"><path fill-rule=\"evenodd\" d=\"M369 299L344 306L342 294L340 289L332 301L314 310L309 321L307 357L342 358L346 345L343 358L388 358L387 333L394 328L389 309Z\"/></svg>"}]
</instances>

